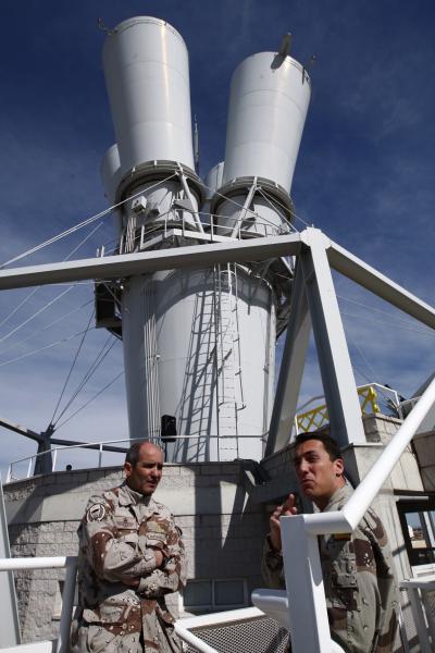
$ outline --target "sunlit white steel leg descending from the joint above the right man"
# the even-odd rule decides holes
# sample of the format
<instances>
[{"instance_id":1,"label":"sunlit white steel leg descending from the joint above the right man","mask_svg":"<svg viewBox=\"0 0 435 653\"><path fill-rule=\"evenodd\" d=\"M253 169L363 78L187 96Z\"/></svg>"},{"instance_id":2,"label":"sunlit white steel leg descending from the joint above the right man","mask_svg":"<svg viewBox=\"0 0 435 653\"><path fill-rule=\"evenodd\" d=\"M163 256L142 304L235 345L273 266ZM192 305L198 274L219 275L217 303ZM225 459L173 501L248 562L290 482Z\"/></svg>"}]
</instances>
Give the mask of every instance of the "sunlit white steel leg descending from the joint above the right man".
<instances>
[{"instance_id":1,"label":"sunlit white steel leg descending from the joint above the right man","mask_svg":"<svg viewBox=\"0 0 435 653\"><path fill-rule=\"evenodd\" d=\"M326 257L330 241L321 231L311 227L302 233L302 239L308 248L300 255L300 262L331 431L340 446L362 444L365 435L357 384Z\"/></svg>"}]
</instances>

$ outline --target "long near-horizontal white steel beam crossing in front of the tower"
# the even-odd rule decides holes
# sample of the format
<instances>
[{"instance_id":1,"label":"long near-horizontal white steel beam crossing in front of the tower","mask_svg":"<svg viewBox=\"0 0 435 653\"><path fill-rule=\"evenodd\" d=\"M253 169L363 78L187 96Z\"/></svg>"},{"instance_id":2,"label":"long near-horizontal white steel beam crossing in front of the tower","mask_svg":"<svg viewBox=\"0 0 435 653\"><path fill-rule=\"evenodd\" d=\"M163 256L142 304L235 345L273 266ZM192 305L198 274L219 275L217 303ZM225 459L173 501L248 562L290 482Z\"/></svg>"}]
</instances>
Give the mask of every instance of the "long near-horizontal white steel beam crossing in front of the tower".
<instances>
[{"instance_id":1,"label":"long near-horizontal white steel beam crossing in front of the tower","mask_svg":"<svg viewBox=\"0 0 435 653\"><path fill-rule=\"evenodd\" d=\"M121 279L132 274L149 274L178 268L210 268L214 263L260 261L279 256L296 256L300 247L301 238L297 233L15 268L0 271L0 291L87 279Z\"/></svg>"}]
</instances>

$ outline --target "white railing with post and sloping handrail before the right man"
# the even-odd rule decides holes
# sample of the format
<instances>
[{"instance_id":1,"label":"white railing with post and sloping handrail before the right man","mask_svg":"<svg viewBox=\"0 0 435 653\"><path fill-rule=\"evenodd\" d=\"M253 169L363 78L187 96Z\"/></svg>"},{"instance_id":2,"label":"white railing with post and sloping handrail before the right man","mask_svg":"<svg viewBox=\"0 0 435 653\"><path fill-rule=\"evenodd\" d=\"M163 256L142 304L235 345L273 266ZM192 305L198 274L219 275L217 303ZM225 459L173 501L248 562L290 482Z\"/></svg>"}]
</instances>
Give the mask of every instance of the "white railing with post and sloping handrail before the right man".
<instances>
[{"instance_id":1,"label":"white railing with post and sloping handrail before the right man","mask_svg":"<svg viewBox=\"0 0 435 653\"><path fill-rule=\"evenodd\" d=\"M341 510L281 518L294 653L331 653L318 535L357 528L434 403L435 379Z\"/></svg>"}]
</instances>

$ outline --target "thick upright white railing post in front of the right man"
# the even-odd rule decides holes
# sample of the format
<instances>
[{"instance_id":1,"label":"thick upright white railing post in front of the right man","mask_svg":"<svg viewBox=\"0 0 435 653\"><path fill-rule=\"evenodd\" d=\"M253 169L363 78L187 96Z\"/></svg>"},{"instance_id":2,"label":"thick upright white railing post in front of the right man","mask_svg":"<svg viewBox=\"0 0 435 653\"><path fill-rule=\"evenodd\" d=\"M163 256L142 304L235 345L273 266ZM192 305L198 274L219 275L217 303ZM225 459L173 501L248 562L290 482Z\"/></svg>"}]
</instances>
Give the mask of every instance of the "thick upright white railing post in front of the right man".
<instances>
[{"instance_id":1,"label":"thick upright white railing post in front of the right man","mask_svg":"<svg viewBox=\"0 0 435 653\"><path fill-rule=\"evenodd\" d=\"M331 653L331 632L318 538L306 531L303 515L282 517L281 530L291 651Z\"/></svg>"}]
</instances>

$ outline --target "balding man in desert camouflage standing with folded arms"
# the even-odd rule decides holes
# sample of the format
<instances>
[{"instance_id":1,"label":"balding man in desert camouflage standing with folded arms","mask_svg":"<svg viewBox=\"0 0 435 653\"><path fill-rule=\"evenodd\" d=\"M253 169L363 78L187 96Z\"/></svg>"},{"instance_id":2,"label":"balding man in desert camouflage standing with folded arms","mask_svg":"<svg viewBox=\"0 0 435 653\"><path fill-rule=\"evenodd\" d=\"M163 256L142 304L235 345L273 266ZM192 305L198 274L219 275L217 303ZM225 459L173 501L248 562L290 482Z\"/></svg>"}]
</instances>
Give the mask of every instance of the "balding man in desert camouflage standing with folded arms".
<instances>
[{"instance_id":1,"label":"balding man in desert camouflage standing with folded arms","mask_svg":"<svg viewBox=\"0 0 435 653\"><path fill-rule=\"evenodd\" d=\"M125 482L91 496L78 527L78 607L73 653L178 653L164 595L185 584L181 531L152 498L163 457L153 444L127 452Z\"/></svg>"}]
</instances>

